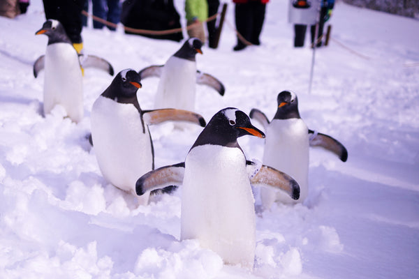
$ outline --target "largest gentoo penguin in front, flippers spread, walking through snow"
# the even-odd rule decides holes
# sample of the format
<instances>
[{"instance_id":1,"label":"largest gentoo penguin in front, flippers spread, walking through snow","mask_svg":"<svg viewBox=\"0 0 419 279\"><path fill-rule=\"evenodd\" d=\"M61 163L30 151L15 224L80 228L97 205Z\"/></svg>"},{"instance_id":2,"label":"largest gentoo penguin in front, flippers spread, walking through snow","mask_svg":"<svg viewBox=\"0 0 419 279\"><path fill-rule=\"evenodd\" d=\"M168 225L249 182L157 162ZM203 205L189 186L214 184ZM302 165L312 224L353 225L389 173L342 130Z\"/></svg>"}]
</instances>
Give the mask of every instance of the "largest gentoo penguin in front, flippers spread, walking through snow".
<instances>
[{"instance_id":1,"label":"largest gentoo penguin in front, flippers spread, walking through snow","mask_svg":"<svg viewBox=\"0 0 419 279\"><path fill-rule=\"evenodd\" d=\"M298 184L282 172L246 160L237 143L243 135L265 137L247 114L233 107L217 112L191 147L184 163L140 177L138 195L182 184L180 238L198 239L226 264L250 269L256 247L253 185L279 187L298 199Z\"/></svg>"}]
</instances>

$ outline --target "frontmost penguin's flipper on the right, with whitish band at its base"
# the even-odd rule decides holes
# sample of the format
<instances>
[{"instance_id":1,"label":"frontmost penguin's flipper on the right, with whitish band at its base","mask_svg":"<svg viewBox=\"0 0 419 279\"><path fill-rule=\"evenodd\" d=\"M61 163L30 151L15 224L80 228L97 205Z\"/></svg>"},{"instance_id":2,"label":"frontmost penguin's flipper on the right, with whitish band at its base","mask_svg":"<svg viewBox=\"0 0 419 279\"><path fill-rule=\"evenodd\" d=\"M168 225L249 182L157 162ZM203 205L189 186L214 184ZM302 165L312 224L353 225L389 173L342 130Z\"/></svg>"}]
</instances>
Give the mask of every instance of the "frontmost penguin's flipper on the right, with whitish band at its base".
<instances>
[{"instance_id":1,"label":"frontmost penguin's flipper on the right, with whitish band at its base","mask_svg":"<svg viewBox=\"0 0 419 279\"><path fill-rule=\"evenodd\" d=\"M253 186L269 186L279 188L292 199L300 198L300 186L291 176L273 167L262 165L260 162L247 160L247 172Z\"/></svg>"}]
</instances>

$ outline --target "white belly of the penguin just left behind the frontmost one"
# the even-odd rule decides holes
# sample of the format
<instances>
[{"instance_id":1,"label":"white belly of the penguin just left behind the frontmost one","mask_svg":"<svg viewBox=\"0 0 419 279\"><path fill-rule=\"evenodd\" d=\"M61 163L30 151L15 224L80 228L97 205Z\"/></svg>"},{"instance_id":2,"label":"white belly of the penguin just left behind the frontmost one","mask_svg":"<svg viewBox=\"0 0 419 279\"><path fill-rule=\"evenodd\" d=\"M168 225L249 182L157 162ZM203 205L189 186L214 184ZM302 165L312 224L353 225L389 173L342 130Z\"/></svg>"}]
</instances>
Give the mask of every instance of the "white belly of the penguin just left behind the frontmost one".
<instances>
[{"instance_id":1,"label":"white belly of the penguin just left behind the frontmost one","mask_svg":"<svg viewBox=\"0 0 419 279\"><path fill-rule=\"evenodd\" d=\"M152 143L131 104L99 96L91 110L91 137L106 180L135 195L135 182L152 170Z\"/></svg>"}]
</instances>

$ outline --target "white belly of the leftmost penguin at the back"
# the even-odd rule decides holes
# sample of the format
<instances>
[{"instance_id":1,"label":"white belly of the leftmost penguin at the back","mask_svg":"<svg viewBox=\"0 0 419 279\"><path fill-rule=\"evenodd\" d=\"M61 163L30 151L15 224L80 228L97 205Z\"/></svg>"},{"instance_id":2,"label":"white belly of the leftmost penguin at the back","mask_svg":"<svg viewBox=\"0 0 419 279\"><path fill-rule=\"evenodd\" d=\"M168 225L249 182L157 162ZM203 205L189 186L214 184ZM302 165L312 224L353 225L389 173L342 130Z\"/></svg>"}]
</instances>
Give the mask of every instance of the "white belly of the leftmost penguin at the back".
<instances>
[{"instance_id":1,"label":"white belly of the leftmost penguin at the back","mask_svg":"<svg viewBox=\"0 0 419 279\"><path fill-rule=\"evenodd\" d=\"M62 105L68 117L83 117L82 71L78 54L68 43L54 43L45 52L44 113Z\"/></svg>"}]
</instances>

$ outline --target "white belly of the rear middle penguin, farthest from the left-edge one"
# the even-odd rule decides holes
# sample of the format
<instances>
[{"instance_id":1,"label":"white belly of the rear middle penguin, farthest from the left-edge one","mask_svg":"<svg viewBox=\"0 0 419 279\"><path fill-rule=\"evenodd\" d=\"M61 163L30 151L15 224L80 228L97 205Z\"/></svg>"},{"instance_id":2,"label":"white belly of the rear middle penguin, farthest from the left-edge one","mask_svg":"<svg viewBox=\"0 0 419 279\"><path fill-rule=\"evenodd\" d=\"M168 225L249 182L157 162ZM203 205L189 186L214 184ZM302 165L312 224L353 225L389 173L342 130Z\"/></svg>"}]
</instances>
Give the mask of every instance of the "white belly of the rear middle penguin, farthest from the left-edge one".
<instances>
[{"instance_id":1,"label":"white belly of the rear middle penguin, farthest from the left-edge one","mask_svg":"<svg viewBox=\"0 0 419 279\"><path fill-rule=\"evenodd\" d=\"M194 110L196 62L172 56L161 73L155 108Z\"/></svg>"}]
</instances>

